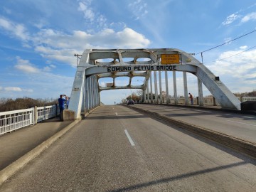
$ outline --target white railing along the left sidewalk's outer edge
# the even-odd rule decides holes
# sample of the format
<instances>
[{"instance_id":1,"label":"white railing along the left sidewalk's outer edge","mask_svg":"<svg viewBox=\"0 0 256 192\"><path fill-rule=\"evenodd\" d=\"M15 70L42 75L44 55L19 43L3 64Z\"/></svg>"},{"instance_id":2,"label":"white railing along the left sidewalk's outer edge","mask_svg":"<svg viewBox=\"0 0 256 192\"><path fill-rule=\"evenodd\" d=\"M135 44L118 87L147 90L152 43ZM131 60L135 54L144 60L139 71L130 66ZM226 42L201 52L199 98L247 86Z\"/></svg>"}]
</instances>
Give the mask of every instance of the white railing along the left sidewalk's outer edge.
<instances>
[{"instance_id":1,"label":"white railing along the left sidewalk's outer edge","mask_svg":"<svg viewBox=\"0 0 256 192\"><path fill-rule=\"evenodd\" d=\"M60 113L57 105L0 112L0 134L36 124L37 122L56 117L58 114Z\"/></svg>"}]
</instances>

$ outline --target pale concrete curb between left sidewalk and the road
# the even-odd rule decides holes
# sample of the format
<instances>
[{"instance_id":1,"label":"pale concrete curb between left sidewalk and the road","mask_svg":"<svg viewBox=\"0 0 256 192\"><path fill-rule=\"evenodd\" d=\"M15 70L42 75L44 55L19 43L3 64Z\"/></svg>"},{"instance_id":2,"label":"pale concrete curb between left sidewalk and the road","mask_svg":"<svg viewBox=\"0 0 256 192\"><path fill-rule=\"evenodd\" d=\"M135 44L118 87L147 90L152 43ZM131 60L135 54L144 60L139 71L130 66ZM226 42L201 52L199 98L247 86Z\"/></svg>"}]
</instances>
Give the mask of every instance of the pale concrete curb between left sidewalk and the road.
<instances>
[{"instance_id":1,"label":"pale concrete curb between left sidewalk and the road","mask_svg":"<svg viewBox=\"0 0 256 192\"><path fill-rule=\"evenodd\" d=\"M52 137L47 139L42 144L36 146L34 149L29 151L27 154L21 156L21 158L14 161L14 163L10 164L9 166L6 166L6 168L2 169L0 171L0 186L2 183L4 183L8 178L13 176L18 170L23 168L23 166L26 166L29 161L36 158L39 154L41 154L45 149L48 148L53 142L55 142L57 139L62 137L66 132L68 132L72 127L75 126L75 124L78 124L80 122L80 119L76 119L74 122L69 124L64 129L60 130L60 132L54 134Z\"/></svg>"}]
</instances>

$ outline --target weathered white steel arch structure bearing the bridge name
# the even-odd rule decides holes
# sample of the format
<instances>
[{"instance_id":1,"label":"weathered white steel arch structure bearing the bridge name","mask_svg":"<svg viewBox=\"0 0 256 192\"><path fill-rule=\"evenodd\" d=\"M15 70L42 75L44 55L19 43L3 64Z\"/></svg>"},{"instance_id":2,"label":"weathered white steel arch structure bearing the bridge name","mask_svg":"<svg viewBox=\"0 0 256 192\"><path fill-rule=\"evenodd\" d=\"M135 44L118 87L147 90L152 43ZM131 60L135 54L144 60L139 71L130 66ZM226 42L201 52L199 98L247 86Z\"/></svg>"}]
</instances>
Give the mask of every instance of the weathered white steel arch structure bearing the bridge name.
<instances>
[{"instance_id":1,"label":"weathered white steel arch structure bearing the bridge name","mask_svg":"<svg viewBox=\"0 0 256 192\"><path fill-rule=\"evenodd\" d=\"M151 95L153 94L152 71L154 72L155 95L158 90L156 71L165 71L166 95L169 94L167 72L173 72L175 104L177 104L176 71L182 71L185 105L188 105L186 73L192 73L198 79L199 105L203 105L202 85L204 84L223 109L240 110L240 101L218 77L192 55L176 48L85 50L75 74L69 110L74 112L75 119L80 118L83 112L100 105L100 91L102 90L141 89L144 95L142 102L154 102L152 97L146 97L149 95L149 87ZM129 84L126 86L115 85L115 78L119 77L128 77ZM143 85L132 85L134 77L144 77ZM100 78L112 78L113 82L107 87L101 87L98 82ZM161 73L159 73L159 82L161 82ZM161 93L161 85L159 86Z\"/></svg>"}]
</instances>

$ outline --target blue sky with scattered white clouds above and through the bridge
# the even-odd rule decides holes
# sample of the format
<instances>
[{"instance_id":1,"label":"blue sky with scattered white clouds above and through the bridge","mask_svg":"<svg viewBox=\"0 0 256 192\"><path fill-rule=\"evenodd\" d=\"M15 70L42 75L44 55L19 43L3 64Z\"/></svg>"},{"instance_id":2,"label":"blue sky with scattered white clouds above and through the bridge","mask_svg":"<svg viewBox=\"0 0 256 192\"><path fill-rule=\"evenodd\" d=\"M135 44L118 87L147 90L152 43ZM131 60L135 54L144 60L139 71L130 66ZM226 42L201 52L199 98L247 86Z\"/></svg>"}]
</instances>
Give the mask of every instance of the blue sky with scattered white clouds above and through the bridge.
<instances>
[{"instance_id":1,"label":"blue sky with scattered white clouds above and through the bridge","mask_svg":"<svg viewBox=\"0 0 256 192\"><path fill-rule=\"evenodd\" d=\"M88 48L201 53L255 29L256 3L251 0L1 1L0 97L70 95L74 54ZM253 32L204 52L203 62L232 92L250 92L256 90L255 46ZM201 60L201 54L196 58ZM181 75L177 81L182 87ZM169 86L171 94L171 82ZM192 75L188 87L197 94ZM101 100L113 104L129 94L130 90L103 91ZM178 95L183 95L182 88Z\"/></svg>"}]
</instances>

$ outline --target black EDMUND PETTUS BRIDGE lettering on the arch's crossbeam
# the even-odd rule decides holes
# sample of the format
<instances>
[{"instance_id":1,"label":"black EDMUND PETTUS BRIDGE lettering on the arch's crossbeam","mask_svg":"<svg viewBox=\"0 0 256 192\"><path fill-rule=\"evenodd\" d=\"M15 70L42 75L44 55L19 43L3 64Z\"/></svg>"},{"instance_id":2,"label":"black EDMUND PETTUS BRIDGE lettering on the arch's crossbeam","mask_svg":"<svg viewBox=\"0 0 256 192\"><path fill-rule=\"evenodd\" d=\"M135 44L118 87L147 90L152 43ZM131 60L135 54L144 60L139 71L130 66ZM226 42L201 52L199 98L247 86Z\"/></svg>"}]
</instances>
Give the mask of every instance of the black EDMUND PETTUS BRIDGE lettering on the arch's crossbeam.
<instances>
[{"instance_id":1,"label":"black EDMUND PETTUS BRIDGE lettering on the arch's crossbeam","mask_svg":"<svg viewBox=\"0 0 256 192\"><path fill-rule=\"evenodd\" d=\"M140 70L177 70L176 65L142 65L142 66L111 66L107 72L140 71Z\"/></svg>"}]
</instances>

